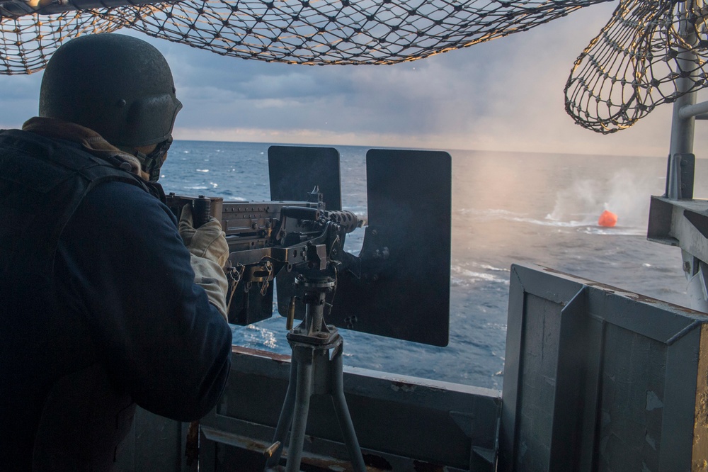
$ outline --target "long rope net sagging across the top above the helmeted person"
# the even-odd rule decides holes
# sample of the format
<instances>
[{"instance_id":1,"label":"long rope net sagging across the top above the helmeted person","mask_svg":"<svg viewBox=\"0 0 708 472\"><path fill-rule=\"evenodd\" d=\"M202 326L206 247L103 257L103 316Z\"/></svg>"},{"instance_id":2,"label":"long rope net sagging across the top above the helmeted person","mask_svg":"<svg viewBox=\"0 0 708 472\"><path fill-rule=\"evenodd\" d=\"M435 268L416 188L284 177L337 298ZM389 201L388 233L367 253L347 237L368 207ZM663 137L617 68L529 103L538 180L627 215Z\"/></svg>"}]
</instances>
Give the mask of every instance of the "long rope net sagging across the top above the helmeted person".
<instances>
[{"instance_id":1,"label":"long rope net sagging across the top above the helmeted person","mask_svg":"<svg viewBox=\"0 0 708 472\"><path fill-rule=\"evenodd\" d=\"M42 15L38 6L13 17L0 0L0 72L35 72L73 35L124 27L247 59L393 64L528 30L601 1L185 0L58 16Z\"/></svg>"}]
</instances>

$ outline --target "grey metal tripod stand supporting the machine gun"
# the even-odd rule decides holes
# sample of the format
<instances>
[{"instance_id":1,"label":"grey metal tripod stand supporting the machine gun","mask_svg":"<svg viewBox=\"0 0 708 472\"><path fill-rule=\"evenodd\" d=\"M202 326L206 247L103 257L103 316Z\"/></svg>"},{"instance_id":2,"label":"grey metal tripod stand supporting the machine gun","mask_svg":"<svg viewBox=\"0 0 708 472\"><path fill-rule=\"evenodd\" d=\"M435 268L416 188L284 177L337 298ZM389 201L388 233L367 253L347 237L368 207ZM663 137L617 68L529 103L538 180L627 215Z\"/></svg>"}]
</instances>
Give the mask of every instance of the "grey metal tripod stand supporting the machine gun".
<instances>
[{"instance_id":1,"label":"grey metal tripod stand supporting the machine gun","mask_svg":"<svg viewBox=\"0 0 708 472\"><path fill-rule=\"evenodd\" d=\"M305 317L299 326L287 333L287 342L292 348L290 382L280 410L278 426L275 428L273 446L266 451L268 460L265 463L265 471L278 470L282 444L291 424L285 471L299 471L310 397L326 393L332 397L339 428L354 470L365 472L366 466L344 398L343 339L336 327L328 326L324 322L325 294L333 290L336 281L326 277L298 279L296 283L304 286Z\"/></svg>"}]
</instances>

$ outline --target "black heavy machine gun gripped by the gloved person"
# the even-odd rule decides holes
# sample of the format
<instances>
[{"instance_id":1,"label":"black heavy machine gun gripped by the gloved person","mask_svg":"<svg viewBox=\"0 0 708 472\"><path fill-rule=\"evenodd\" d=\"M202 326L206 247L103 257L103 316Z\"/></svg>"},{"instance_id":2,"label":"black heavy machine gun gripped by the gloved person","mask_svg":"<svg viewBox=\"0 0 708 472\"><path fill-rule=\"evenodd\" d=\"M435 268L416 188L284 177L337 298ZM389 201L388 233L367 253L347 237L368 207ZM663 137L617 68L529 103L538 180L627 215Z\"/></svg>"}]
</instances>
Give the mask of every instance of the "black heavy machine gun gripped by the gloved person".
<instances>
[{"instance_id":1,"label":"black heavy machine gun gripped by the gloved person","mask_svg":"<svg viewBox=\"0 0 708 472\"><path fill-rule=\"evenodd\" d=\"M358 258L343 251L346 234L364 221L346 210L325 210L315 187L306 201L228 202L223 198L178 196L166 204L179 218L192 207L195 227L215 217L229 244L229 322L249 325L273 315L273 279L280 271L327 274L358 268ZM288 329L295 317L290 302Z\"/></svg>"}]
</instances>

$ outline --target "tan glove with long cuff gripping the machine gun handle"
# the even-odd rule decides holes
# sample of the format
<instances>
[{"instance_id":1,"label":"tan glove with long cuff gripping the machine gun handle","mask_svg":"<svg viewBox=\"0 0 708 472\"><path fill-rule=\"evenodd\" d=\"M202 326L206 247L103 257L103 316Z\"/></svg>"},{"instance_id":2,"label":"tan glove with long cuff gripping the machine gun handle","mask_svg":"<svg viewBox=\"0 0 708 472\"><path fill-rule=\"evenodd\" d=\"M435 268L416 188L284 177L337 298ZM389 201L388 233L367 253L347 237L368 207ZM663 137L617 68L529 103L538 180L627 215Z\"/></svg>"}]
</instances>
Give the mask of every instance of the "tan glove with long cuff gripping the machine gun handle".
<instances>
[{"instance_id":1,"label":"tan glove with long cuff gripping the machine gun handle","mask_svg":"<svg viewBox=\"0 0 708 472\"><path fill-rule=\"evenodd\" d=\"M192 223L192 208L185 206L179 220L179 234L190 252L194 271L194 283L207 293L209 301L228 321L226 294L229 282L224 273L224 264L229 259L229 245L221 223L211 218L195 228Z\"/></svg>"}]
</instances>

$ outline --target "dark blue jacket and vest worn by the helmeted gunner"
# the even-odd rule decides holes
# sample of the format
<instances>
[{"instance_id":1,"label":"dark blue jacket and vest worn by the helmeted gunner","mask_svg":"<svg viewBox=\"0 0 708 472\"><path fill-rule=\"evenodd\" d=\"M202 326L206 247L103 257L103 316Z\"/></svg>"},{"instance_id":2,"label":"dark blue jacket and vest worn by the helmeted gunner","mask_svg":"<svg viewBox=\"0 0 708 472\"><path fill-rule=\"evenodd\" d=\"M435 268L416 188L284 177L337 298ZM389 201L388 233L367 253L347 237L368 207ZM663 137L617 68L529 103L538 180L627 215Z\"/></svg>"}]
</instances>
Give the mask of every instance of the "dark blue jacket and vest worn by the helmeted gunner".
<instances>
[{"instance_id":1,"label":"dark blue jacket and vest worn by the helmeted gunner","mask_svg":"<svg viewBox=\"0 0 708 472\"><path fill-rule=\"evenodd\" d=\"M0 133L0 468L105 470L134 402L217 402L231 330L169 208L70 142Z\"/></svg>"}]
</instances>

